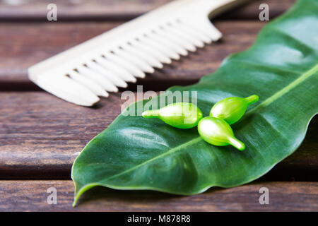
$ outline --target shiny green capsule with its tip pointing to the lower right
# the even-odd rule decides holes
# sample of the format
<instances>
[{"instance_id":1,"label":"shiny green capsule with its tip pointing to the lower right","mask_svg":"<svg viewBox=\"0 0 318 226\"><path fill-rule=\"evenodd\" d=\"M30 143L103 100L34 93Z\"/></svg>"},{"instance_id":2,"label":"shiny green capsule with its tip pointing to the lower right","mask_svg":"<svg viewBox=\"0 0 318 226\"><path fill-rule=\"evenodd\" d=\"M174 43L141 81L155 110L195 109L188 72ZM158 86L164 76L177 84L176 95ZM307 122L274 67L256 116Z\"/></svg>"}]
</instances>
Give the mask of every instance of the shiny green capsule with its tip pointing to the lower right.
<instances>
[{"instance_id":1,"label":"shiny green capsule with its tip pointing to the lower right","mask_svg":"<svg viewBox=\"0 0 318 226\"><path fill-rule=\"evenodd\" d=\"M198 131L201 138L212 145L232 145L238 150L245 150L245 144L235 138L231 126L223 119L205 117L199 121Z\"/></svg>"}]
</instances>

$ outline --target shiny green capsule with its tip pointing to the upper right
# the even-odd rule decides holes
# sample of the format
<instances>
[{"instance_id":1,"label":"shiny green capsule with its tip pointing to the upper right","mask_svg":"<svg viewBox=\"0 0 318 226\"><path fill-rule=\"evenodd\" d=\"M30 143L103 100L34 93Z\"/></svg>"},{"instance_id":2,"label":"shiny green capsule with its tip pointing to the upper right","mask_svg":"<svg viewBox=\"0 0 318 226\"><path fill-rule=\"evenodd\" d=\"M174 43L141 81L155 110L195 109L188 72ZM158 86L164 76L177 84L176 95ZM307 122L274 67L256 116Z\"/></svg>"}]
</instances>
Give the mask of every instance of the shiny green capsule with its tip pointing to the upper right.
<instances>
[{"instance_id":1,"label":"shiny green capsule with its tip pointing to the upper right","mask_svg":"<svg viewBox=\"0 0 318 226\"><path fill-rule=\"evenodd\" d=\"M247 107L259 100L259 96L250 97L228 97L220 100L211 109L210 116L224 119L228 124L234 124L245 114Z\"/></svg>"}]
</instances>

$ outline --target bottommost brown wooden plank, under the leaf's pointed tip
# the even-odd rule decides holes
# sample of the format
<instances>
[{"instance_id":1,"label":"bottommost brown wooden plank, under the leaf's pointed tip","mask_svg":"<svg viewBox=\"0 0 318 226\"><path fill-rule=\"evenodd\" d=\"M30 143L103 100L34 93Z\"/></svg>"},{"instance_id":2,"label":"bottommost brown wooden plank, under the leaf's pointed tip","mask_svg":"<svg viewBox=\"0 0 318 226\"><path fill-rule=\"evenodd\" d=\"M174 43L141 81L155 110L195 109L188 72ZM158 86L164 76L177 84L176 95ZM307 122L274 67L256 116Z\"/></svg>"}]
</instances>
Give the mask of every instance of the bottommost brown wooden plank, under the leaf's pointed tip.
<instances>
[{"instance_id":1,"label":"bottommost brown wooden plank, under the leaf's pointed tip","mask_svg":"<svg viewBox=\"0 0 318 226\"><path fill-rule=\"evenodd\" d=\"M47 203L47 189L57 189L57 204ZM269 205L259 203L259 189L269 189ZM195 196L153 191L87 191L76 208L71 181L0 181L0 211L317 211L318 182L262 182L232 189L213 188Z\"/></svg>"}]
</instances>

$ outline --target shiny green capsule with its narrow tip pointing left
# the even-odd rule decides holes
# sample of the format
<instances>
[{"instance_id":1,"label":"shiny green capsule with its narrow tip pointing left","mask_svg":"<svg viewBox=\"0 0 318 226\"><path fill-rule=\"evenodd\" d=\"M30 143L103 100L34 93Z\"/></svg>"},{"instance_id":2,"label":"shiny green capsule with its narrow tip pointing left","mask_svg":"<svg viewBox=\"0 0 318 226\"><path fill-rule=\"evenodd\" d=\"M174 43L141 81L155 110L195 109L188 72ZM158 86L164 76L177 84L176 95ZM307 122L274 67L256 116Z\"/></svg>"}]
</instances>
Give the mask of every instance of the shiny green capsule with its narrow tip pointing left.
<instances>
[{"instance_id":1,"label":"shiny green capsule with its narrow tip pointing left","mask_svg":"<svg viewBox=\"0 0 318 226\"><path fill-rule=\"evenodd\" d=\"M190 129L202 119L199 107L187 102L177 102L158 110L143 112L144 118L158 118L179 129Z\"/></svg>"}]
</instances>

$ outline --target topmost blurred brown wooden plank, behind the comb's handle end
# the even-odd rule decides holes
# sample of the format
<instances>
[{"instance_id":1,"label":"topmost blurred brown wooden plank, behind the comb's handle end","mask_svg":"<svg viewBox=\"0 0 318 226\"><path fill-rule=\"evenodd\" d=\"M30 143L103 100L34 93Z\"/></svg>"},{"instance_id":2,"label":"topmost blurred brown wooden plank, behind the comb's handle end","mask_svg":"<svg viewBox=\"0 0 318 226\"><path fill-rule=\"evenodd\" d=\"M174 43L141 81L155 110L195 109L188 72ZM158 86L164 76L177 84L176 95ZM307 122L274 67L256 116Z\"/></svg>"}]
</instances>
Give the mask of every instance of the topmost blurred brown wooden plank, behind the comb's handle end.
<instances>
[{"instance_id":1,"label":"topmost blurred brown wooden plank, behind the comb's handle end","mask_svg":"<svg viewBox=\"0 0 318 226\"><path fill-rule=\"evenodd\" d=\"M18 4L0 1L0 20L47 20L47 5L57 4L58 20L128 20L151 11L170 0L28 0ZM258 19L259 5L269 4L270 16L274 18L293 6L295 0L252 1L237 10L225 13L220 19Z\"/></svg>"}]
</instances>

